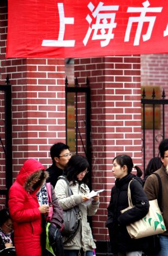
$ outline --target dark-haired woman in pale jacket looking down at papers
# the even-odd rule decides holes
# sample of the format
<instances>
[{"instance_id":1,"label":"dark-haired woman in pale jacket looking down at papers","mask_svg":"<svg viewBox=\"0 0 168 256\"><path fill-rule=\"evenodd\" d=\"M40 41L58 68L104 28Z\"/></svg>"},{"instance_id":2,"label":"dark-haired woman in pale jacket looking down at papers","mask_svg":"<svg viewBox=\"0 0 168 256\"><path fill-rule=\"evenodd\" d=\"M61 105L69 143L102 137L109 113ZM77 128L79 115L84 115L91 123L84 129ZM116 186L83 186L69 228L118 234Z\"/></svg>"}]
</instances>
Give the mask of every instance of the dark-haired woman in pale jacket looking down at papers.
<instances>
[{"instance_id":1,"label":"dark-haired woman in pale jacket looking down at papers","mask_svg":"<svg viewBox=\"0 0 168 256\"><path fill-rule=\"evenodd\" d=\"M88 167L89 164L85 157L80 155L72 156L65 170L66 178L60 176L55 185L55 195L63 211L78 205L82 213L81 225L77 234L72 240L64 244L65 256L80 255L81 249L84 255L92 256L93 249L96 248L91 227L87 222L87 216L93 216L96 213L99 207L99 195L94 196L92 200L88 198L88 194L90 193L87 186ZM72 190L73 194L71 196L68 194L68 185L65 179L68 180ZM67 237L63 237L63 242L66 241L66 239Z\"/></svg>"}]
</instances>

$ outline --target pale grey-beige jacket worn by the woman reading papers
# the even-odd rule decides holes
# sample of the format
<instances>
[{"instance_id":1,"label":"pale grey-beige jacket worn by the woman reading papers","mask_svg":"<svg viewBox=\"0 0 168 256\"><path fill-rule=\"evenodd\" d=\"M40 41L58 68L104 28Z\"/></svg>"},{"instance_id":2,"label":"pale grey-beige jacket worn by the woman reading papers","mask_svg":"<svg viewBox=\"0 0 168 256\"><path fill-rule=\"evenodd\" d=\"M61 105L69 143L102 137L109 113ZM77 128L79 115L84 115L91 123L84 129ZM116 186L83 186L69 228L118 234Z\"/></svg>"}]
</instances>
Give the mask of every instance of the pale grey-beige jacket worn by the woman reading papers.
<instances>
[{"instance_id":1,"label":"pale grey-beige jacket worn by the woman reading papers","mask_svg":"<svg viewBox=\"0 0 168 256\"><path fill-rule=\"evenodd\" d=\"M62 177L63 176L60 176L58 178L59 180L54 189L60 207L62 207L63 210L67 210L78 205L82 213L81 227L76 236L64 245L64 249L80 250L82 248L84 252L92 250L93 248L96 248L96 245L92 237L91 227L87 222L87 216L93 216L96 213L97 208L99 207L99 202L91 201L88 204L82 203L81 195L87 196L90 193L90 190L86 184L79 185L78 182L76 182L76 185L73 185L73 182L69 182L69 186L73 193L73 195L69 196L67 182L64 179L60 179ZM65 237L63 237L63 241L64 240L66 240Z\"/></svg>"}]
</instances>

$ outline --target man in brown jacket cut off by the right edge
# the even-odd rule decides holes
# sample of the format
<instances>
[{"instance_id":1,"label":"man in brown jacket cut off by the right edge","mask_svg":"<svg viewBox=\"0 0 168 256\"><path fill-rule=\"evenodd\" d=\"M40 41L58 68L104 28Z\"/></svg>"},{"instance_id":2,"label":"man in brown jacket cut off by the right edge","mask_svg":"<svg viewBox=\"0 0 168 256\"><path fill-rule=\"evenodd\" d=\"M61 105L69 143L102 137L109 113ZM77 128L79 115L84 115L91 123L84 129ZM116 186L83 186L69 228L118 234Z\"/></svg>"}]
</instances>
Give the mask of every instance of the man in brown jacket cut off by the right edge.
<instances>
[{"instance_id":1,"label":"man in brown jacket cut off by the right edge","mask_svg":"<svg viewBox=\"0 0 168 256\"><path fill-rule=\"evenodd\" d=\"M167 230L162 235L160 235L161 250L158 254L156 254L157 256L162 256L168 255L168 139L162 140L158 149L161 156L162 166L156 171L156 173L158 173L160 176L162 184L161 210ZM144 184L144 191L149 200L158 198L158 180L156 175L148 176Z\"/></svg>"}]
</instances>

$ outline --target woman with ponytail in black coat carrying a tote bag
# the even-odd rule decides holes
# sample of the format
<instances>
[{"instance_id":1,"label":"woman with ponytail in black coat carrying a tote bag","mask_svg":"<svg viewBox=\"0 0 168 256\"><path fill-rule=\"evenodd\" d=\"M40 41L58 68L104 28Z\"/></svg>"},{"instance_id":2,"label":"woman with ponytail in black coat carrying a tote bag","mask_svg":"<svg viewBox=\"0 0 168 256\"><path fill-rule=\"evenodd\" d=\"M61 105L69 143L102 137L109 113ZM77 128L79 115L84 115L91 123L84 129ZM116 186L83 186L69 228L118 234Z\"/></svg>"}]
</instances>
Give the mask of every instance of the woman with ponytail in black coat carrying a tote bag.
<instances>
[{"instance_id":1,"label":"woman with ponytail in black coat carrying a tote bag","mask_svg":"<svg viewBox=\"0 0 168 256\"><path fill-rule=\"evenodd\" d=\"M113 175L116 178L115 186L111 189L111 199L108 207L108 221L111 250L118 256L141 256L142 250L147 248L146 239L130 238L126 226L146 216L149 209L147 196L142 188L142 180L131 173L136 168L139 176L138 166L133 166L132 158L120 155L113 159ZM121 213L128 205L128 184L130 180L130 191L134 208Z\"/></svg>"}]
</instances>

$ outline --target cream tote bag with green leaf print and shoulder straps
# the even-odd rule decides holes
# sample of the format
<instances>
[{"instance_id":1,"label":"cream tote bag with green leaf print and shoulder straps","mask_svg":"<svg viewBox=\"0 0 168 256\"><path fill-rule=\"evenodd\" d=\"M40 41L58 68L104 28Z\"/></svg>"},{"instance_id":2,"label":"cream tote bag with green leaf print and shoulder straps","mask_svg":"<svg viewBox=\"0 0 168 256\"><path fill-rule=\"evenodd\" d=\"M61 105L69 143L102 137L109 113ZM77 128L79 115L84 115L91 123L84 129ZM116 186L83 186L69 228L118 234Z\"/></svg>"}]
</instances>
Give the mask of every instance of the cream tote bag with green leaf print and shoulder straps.
<instances>
[{"instance_id":1,"label":"cream tote bag with green leaf print and shoulder straps","mask_svg":"<svg viewBox=\"0 0 168 256\"><path fill-rule=\"evenodd\" d=\"M132 182L132 180L130 181ZM128 204L129 207L123 209L121 213L133 208L130 195L130 182L128 185ZM162 218L160 208L158 207L157 199L150 200L150 209L145 217L141 220L127 225L127 231L131 238L138 239L146 236L162 234L166 231L165 223Z\"/></svg>"}]
</instances>

